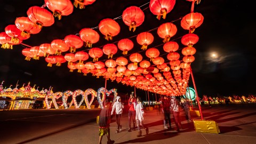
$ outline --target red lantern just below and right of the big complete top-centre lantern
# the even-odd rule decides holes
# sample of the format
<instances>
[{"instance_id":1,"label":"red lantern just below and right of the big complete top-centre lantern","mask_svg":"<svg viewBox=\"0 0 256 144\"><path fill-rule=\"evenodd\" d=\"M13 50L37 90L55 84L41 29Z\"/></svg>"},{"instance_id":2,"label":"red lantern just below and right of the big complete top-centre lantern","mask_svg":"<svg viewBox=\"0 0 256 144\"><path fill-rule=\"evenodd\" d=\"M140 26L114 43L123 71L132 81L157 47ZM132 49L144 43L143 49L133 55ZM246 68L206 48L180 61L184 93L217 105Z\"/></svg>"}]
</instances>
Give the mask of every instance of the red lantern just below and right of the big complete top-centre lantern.
<instances>
[{"instance_id":1,"label":"red lantern just below and right of the big complete top-centre lantern","mask_svg":"<svg viewBox=\"0 0 256 144\"><path fill-rule=\"evenodd\" d=\"M146 50L148 45L153 43L153 41L154 41L154 36L148 32L140 33L137 36L137 42L140 45L142 45L142 47L141 47L142 50Z\"/></svg>"}]
</instances>

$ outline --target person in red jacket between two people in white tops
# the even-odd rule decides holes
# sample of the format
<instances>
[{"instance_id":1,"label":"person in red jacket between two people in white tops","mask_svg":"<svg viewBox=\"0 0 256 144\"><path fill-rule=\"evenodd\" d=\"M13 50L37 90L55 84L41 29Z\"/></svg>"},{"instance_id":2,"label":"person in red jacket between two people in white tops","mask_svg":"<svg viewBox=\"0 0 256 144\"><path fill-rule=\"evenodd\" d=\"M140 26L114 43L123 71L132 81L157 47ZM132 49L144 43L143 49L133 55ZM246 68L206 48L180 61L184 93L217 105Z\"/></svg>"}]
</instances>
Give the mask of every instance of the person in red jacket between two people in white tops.
<instances>
[{"instance_id":1,"label":"person in red jacket between two people in white tops","mask_svg":"<svg viewBox=\"0 0 256 144\"><path fill-rule=\"evenodd\" d=\"M128 106L129 106L129 111L128 111L128 118L129 118L129 129L127 130L128 132L131 132L131 123L133 122L133 131L135 131L135 98L133 96L133 92L130 94L130 98L128 100Z\"/></svg>"}]
</instances>

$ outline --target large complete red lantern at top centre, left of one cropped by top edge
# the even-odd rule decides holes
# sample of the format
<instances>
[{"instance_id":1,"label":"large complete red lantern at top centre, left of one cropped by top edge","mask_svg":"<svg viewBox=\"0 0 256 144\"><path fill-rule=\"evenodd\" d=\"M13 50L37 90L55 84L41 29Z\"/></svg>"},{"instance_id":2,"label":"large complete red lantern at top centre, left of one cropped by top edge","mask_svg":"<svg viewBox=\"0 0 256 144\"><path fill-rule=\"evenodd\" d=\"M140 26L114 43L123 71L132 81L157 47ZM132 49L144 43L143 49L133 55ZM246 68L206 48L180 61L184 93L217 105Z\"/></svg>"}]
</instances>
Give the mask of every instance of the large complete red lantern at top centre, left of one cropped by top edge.
<instances>
[{"instance_id":1,"label":"large complete red lantern at top centre, left of one cropped by top edge","mask_svg":"<svg viewBox=\"0 0 256 144\"><path fill-rule=\"evenodd\" d=\"M140 7L131 6L127 7L122 15L125 25L129 26L129 30L135 31L136 27L139 27L144 21L145 15Z\"/></svg>"}]
</instances>

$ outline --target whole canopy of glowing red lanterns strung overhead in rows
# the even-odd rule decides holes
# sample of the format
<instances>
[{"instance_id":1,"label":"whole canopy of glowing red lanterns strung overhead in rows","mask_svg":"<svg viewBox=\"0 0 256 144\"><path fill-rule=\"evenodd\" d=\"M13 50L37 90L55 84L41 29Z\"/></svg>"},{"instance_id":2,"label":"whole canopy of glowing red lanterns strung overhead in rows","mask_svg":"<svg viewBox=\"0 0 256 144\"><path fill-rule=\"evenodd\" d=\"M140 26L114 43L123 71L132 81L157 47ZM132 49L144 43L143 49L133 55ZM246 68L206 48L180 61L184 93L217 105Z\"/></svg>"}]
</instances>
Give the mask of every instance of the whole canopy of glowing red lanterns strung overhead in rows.
<instances>
[{"instance_id":1,"label":"whole canopy of glowing red lanterns strung overhead in rows","mask_svg":"<svg viewBox=\"0 0 256 144\"><path fill-rule=\"evenodd\" d=\"M188 30L188 34L181 37L181 43L185 45L181 51L182 59L177 52L178 43L170 41L177 33L177 26L173 23L162 23L157 28L158 36L163 39L161 48L150 47L154 37L158 36L145 31L136 36L141 51L129 53L134 49L135 42L130 38L123 38L117 44L111 43L113 37L121 33L121 27L115 19L109 18L102 19L98 25L100 33L109 41L103 47L93 47L101 36L97 31L93 28L83 28L79 34L67 35L63 39L54 39L51 43L25 48L22 54L25 55L26 60L45 57L49 67L53 64L61 66L62 63L67 62L70 71L77 70L84 75L91 73L96 77L104 77L154 93L183 95L190 77L190 64L195 60L193 55L196 49L193 46L199 39L193 33L204 19L201 13L194 12L194 4L199 1L189 1L190 13L185 15L180 23L183 29ZM74 6L84 9L95 0L75 0L74 6L70 0L44 2L45 5L42 7L31 6L27 11L27 17L17 18L15 25L5 27L5 31L0 33L0 44L3 49L12 49L13 45L21 44L23 40L28 39L30 34L37 34L43 27L53 25L54 17L61 20L62 16L68 16L73 12ZM157 15L158 20L161 20L173 10L174 5L175 0L150 0L149 9ZM122 19L130 31L135 31L143 23L145 14L140 7L130 6L123 11ZM88 49L84 50L84 46ZM159 49L163 49L166 53L160 53ZM122 57L115 57L118 51L122 51ZM146 57L141 53L145 53ZM108 55L107 60L100 59L103 54ZM93 61L89 61L89 58L93 58Z\"/></svg>"}]
</instances>

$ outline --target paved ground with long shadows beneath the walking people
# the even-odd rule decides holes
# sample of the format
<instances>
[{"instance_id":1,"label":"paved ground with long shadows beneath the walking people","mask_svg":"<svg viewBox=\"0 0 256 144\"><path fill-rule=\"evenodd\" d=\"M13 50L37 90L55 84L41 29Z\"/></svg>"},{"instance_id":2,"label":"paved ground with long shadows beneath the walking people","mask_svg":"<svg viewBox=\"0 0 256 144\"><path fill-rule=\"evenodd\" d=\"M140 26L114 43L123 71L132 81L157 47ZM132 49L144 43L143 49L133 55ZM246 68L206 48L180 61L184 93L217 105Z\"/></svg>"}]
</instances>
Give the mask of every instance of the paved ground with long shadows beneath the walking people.
<instances>
[{"instance_id":1,"label":"paved ground with long shadows beneath the walking people","mask_svg":"<svg viewBox=\"0 0 256 144\"><path fill-rule=\"evenodd\" d=\"M115 133L115 119L110 124L110 138L115 143L256 143L256 105L202 106L205 119L218 123L220 134L196 133L193 122L183 113L183 130L163 129L162 114L146 111L149 134L137 138L137 131L127 132L127 114L123 114L123 131ZM98 124L93 110L12 110L0 111L0 143L98 143ZM199 117L193 117L199 119ZM107 143L106 136L102 143Z\"/></svg>"}]
</instances>

